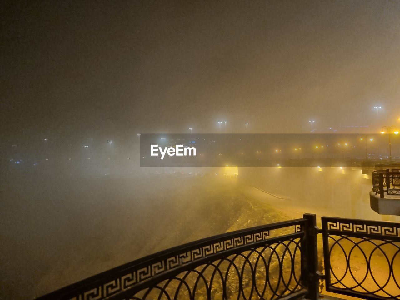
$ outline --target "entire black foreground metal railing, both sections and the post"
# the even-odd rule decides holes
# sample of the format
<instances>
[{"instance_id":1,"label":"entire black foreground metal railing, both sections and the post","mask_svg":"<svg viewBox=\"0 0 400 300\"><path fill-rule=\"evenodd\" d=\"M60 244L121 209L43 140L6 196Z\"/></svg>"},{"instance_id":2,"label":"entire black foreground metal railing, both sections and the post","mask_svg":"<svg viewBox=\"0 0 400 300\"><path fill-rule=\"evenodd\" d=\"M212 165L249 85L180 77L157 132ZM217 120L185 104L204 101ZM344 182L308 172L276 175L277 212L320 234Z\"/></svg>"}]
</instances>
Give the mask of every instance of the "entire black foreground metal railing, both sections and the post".
<instances>
[{"instance_id":1,"label":"entire black foreground metal railing, both sections and the post","mask_svg":"<svg viewBox=\"0 0 400 300\"><path fill-rule=\"evenodd\" d=\"M158 252L38 300L318 300L323 279L328 292L400 299L400 223L322 217L318 229L304 214Z\"/></svg>"}]
</instances>

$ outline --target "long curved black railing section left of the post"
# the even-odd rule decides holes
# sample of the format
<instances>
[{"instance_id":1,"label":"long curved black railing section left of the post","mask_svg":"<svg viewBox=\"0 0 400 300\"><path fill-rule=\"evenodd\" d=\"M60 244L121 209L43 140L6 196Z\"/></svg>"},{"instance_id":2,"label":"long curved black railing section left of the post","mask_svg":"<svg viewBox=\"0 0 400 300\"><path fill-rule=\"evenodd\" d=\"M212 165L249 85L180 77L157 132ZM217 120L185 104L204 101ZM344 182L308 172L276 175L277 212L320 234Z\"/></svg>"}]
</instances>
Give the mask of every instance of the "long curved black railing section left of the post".
<instances>
[{"instance_id":1,"label":"long curved black railing section left of the post","mask_svg":"<svg viewBox=\"0 0 400 300\"><path fill-rule=\"evenodd\" d=\"M38 299L297 298L307 294L307 224L297 219L198 240Z\"/></svg>"}]
</instances>

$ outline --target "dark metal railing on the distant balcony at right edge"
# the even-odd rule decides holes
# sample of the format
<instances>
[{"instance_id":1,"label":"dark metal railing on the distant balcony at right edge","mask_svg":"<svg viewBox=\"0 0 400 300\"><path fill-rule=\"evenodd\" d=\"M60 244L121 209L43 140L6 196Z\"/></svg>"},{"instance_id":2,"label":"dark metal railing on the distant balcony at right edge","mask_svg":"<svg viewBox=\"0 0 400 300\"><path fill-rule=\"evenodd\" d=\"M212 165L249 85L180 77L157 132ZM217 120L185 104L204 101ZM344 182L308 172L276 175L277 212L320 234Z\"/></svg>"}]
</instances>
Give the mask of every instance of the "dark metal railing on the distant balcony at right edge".
<instances>
[{"instance_id":1,"label":"dark metal railing on the distant balcony at right edge","mask_svg":"<svg viewBox=\"0 0 400 300\"><path fill-rule=\"evenodd\" d=\"M372 172L372 191L380 198L386 195L400 196L400 170L389 169Z\"/></svg>"}]
</instances>

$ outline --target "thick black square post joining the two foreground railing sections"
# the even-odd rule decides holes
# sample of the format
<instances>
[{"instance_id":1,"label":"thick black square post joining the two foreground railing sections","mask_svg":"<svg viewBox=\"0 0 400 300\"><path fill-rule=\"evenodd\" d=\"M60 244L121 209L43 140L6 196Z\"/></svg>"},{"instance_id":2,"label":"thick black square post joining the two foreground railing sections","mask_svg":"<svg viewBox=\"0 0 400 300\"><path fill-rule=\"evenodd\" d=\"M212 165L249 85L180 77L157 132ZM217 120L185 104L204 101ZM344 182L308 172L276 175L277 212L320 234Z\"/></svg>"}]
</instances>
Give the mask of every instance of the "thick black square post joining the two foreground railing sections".
<instances>
[{"instance_id":1,"label":"thick black square post joining the two foreground railing sections","mask_svg":"<svg viewBox=\"0 0 400 300\"><path fill-rule=\"evenodd\" d=\"M304 241L302 243L302 278L307 287L306 298L318 300L319 280L318 273L318 246L317 246L317 219L315 214L304 214L307 220L304 226Z\"/></svg>"}]
</instances>

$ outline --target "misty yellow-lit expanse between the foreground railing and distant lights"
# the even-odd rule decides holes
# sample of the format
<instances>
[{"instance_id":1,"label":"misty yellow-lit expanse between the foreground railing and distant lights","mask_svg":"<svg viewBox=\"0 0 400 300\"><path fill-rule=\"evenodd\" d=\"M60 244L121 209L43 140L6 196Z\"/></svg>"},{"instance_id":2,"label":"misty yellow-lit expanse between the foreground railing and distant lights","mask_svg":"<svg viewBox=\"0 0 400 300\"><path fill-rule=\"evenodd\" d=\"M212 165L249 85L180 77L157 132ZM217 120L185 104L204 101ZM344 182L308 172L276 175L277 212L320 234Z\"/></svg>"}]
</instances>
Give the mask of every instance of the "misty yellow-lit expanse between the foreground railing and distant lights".
<instances>
[{"instance_id":1,"label":"misty yellow-lit expanse between the foreground railing and distant lights","mask_svg":"<svg viewBox=\"0 0 400 300\"><path fill-rule=\"evenodd\" d=\"M400 221L370 209L361 171L246 168L239 177L6 178L1 299L32 299L172 246L304 212Z\"/></svg>"}]
</instances>

